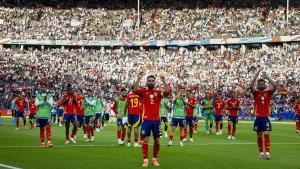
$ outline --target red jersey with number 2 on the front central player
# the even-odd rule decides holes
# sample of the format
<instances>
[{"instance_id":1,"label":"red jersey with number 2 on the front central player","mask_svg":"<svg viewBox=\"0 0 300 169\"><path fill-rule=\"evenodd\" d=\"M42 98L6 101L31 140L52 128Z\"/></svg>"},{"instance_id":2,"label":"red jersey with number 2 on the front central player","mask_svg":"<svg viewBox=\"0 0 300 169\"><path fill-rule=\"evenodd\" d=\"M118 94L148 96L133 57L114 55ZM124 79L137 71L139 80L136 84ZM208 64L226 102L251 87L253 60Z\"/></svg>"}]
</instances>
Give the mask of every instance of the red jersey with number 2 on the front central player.
<instances>
[{"instance_id":1,"label":"red jersey with number 2 on the front central player","mask_svg":"<svg viewBox=\"0 0 300 169\"><path fill-rule=\"evenodd\" d=\"M169 92L162 92L155 89L138 89L135 93L141 96L143 103L143 120L159 121L160 120L160 101L162 97L168 96Z\"/></svg>"}]
</instances>

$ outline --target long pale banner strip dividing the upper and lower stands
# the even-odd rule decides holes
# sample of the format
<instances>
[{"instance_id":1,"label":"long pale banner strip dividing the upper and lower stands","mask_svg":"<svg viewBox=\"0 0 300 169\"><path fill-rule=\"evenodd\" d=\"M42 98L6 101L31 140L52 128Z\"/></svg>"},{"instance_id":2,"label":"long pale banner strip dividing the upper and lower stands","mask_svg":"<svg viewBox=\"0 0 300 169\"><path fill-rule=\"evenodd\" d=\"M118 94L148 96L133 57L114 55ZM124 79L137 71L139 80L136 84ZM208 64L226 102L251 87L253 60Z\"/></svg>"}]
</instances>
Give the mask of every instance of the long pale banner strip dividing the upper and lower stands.
<instances>
[{"instance_id":1,"label":"long pale banner strip dividing the upper and lower stands","mask_svg":"<svg viewBox=\"0 0 300 169\"><path fill-rule=\"evenodd\" d=\"M12 40L9 38L0 39L0 44L7 45L44 45L44 46L207 46L207 45L242 45L242 44L258 44L272 42L300 42L300 35L294 36L273 36L273 37L252 37L252 38L229 38L229 39L203 39L203 40L141 40L141 41L125 41L125 40Z\"/></svg>"}]
</instances>

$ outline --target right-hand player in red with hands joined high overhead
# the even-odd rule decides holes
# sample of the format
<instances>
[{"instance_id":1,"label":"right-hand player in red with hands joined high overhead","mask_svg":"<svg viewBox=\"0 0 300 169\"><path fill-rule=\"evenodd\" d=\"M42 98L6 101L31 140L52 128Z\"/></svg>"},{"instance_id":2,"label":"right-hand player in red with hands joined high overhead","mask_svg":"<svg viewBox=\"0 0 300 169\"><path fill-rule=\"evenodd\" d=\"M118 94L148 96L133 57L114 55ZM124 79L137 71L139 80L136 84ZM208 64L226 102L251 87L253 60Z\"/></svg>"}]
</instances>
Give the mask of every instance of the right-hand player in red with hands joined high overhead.
<instances>
[{"instance_id":1,"label":"right-hand player in red with hands joined high overhead","mask_svg":"<svg viewBox=\"0 0 300 169\"><path fill-rule=\"evenodd\" d=\"M270 133L272 131L272 125L269 120L270 116L270 102L273 93L277 89L277 84L267 76L266 73L262 75L262 78L257 81L257 89L255 88L255 82L263 69L260 69L254 76L250 89L254 96L254 113L255 122L253 130L257 133L257 145L259 149L259 158L267 159L271 158L270 155ZM271 88L267 89L266 80L271 83ZM263 141L264 137L264 141ZM264 154L263 147L265 147L266 153Z\"/></svg>"}]
</instances>

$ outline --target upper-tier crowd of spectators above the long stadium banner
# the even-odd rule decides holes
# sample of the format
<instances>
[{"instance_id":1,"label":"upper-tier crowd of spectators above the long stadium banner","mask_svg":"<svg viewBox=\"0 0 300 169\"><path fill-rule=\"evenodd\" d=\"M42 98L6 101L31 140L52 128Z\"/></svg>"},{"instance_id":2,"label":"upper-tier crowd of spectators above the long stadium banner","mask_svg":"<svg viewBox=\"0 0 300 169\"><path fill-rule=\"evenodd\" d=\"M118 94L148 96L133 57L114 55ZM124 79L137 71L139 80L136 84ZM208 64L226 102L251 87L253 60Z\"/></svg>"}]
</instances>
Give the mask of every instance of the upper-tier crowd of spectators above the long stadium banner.
<instances>
[{"instance_id":1,"label":"upper-tier crowd of spectators above the long stadium banner","mask_svg":"<svg viewBox=\"0 0 300 169\"><path fill-rule=\"evenodd\" d=\"M206 39L300 33L300 10L286 8L135 8L109 10L0 6L0 38L42 40Z\"/></svg>"}]
</instances>

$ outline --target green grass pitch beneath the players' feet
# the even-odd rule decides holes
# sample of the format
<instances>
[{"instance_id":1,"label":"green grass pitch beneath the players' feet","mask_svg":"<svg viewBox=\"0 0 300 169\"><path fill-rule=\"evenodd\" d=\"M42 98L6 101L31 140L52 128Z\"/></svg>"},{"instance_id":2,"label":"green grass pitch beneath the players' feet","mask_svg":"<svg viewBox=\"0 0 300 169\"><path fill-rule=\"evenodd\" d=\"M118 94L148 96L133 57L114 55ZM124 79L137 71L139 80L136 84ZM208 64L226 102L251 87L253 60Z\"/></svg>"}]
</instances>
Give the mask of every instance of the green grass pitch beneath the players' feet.
<instances>
[{"instance_id":1,"label":"green grass pitch beneath the players' feet","mask_svg":"<svg viewBox=\"0 0 300 169\"><path fill-rule=\"evenodd\" d=\"M22 123L21 123L22 124ZM300 135L293 123L273 123L270 161L259 160L252 123L240 122L236 140L227 140L226 124L222 136L207 136L203 123L183 147L178 132L173 146L161 139L159 163L162 169L300 169ZM142 168L141 148L118 146L116 125L109 124L96 133L95 142L85 143L79 130L77 144L64 145L64 127L52 127L53 148L39 147L39 129L16 131L10 119L0 126L0 164L23 169L136 169ZM151 143L152 144L152 143ZM152 145L149 146L149 160ZM1 168L1 167L0 167ZM149 166L148 168L153 168Z\"/></svg>"}]
</instances>

